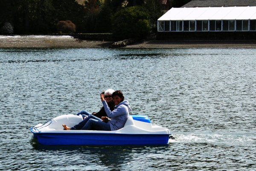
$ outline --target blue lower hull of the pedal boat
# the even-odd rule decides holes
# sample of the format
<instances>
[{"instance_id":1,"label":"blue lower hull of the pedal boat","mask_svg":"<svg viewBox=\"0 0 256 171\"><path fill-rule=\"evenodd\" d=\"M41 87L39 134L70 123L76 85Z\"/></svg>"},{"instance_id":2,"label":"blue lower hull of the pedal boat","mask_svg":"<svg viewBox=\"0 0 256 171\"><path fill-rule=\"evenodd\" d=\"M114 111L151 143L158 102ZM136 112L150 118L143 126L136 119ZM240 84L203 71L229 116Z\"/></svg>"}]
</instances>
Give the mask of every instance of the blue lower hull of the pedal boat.
<instances>
[{"instance_id":1,"label":"blue lower hull of the pedal boat","mask_svg":"<svg viewBox=\"0 0 256 171\"><path fill-rule=\"evenodd\" d=\"M169 134L34 133L43 145L163 145Z\"/></svg>"}]
</instances>

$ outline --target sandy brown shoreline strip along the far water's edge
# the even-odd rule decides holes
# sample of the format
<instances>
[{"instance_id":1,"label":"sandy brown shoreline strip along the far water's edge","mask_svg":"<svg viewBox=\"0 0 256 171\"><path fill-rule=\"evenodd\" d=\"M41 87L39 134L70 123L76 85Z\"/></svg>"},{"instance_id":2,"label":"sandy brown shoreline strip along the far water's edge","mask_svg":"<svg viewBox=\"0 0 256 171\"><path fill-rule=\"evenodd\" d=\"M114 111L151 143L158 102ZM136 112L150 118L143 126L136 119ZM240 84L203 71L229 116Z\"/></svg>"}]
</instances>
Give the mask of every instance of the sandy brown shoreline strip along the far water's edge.
<instances>
[{"instance_id":1,"label":"sandy brown shoreline strip along the far water's edge","mask_svg":"<svg viewBox=\"0 0 256 171\"><path fill-rule=\"evenodd\" d=\"M108 48L113 41L80 40L72 36L0 35L0 48ZM122 48L256 48L256 41L145 40Z\"/></svg>"}]
</instances>

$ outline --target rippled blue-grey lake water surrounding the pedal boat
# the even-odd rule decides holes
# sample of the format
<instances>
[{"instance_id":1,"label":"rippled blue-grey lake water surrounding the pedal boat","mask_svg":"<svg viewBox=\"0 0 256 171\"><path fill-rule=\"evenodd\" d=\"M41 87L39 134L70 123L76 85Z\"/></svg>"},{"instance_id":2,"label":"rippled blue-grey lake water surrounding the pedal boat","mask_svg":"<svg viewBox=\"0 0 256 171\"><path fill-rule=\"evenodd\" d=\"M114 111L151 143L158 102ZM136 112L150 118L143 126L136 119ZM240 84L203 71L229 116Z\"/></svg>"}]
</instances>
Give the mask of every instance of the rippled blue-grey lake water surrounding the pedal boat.
<instances>
[{"instance_id":1,"label":"rippled blue-grey lake water surrounding the pedal boat","mask_svg":"<svg viewBox=\"0 0 256 171\"><path fill-rule=\"evenodd\" d=\"M29 128L122 90L163 146L45 146ZM0 49L0 170L255 171L256 49Z\"/></svg>"}]
</instances>

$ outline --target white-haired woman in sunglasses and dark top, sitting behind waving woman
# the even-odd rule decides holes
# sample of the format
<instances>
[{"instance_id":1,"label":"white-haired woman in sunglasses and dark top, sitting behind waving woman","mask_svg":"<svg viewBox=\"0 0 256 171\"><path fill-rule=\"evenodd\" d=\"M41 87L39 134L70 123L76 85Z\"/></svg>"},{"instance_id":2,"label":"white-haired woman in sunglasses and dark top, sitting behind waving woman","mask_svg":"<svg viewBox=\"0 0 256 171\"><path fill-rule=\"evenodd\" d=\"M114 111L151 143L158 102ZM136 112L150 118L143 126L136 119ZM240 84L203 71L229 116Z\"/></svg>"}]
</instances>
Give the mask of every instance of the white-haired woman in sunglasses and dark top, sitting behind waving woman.
<instances>
[{"instance_id":1,"label":"white-haired woman in sunglasses and dark top, sitting behind waving woman","mask_svg":"<svg viewBox=\"0 0 256 171\"><path fill-rule=\"evenodd\" d=\"M114 103L113 103L113 99L112 99L112 93L115 90L113 89L108 89L105 92L102 92L101 94L104 94L104 98L106 100L106 102L108 103L108 107L110 108L111 111L114 110ZM101 118L102 116L107 116L107 113L105 112L104 107L102 107L99 112L93 112L93 113L89 113L86 110L82 110L81 112L77 113L76 115L81 115L83 119L85 119L85 117L89 116L89 115L94 115L98 118Z\"/></svg>"}]
</instances>

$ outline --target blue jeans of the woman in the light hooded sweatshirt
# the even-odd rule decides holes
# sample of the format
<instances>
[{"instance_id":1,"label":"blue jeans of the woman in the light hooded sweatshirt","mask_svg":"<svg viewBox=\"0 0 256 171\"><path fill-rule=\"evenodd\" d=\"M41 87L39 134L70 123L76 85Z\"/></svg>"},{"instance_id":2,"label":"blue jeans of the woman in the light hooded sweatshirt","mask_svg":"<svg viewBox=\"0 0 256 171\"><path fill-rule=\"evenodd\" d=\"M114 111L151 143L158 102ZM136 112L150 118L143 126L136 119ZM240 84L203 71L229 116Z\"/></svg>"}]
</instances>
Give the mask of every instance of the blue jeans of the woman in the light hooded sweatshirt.
<instances>
[{"instance_id":1,"label":"blue jeans of the woman in the light hooded sweatshirt","mask_svg":"<svg viewBox=\"0 0 256 171\"><path fill-rule=\"evenodd\" d=\"M70 129L71 130L111 130L109 122L108 123L102 122L101 119L93 115L89 115L82 122L80 122L79 124L75 125Z\"/></svg>"}]
</instances>

